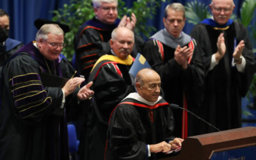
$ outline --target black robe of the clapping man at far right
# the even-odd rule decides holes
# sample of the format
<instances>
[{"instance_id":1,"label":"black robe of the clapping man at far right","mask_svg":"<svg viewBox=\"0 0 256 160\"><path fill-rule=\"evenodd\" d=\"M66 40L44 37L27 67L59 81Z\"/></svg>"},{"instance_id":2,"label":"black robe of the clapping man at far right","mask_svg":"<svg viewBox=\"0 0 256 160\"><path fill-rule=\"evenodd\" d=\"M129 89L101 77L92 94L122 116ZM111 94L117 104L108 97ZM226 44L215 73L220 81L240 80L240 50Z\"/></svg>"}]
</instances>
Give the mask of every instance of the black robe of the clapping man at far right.
<instances>
[{"instance_id":1,"label":"black robe of the clapping man at far right","mask_svg":"<svg viewBox=\"0 0 256 160\"><path fill-rule=\"evenodd\" d=\"M227 51L218 65L209 70L211 56L217 51L216 43L221 32L224 33ZM246 95L254 72L252 44L246 28L237 22L233 22L223 31L207 24L198 24L191 31L191 36L198 40L204 51L201 54L206 77L200 116L221 130L241 127L241 97ZM231 65L234 44L237 45L241 40L244 40L242 55L246 60L243 73ZM203 134L216 130L202 124L198 131Z\"/></svg>"}]
</instances>

